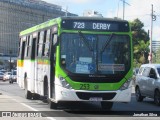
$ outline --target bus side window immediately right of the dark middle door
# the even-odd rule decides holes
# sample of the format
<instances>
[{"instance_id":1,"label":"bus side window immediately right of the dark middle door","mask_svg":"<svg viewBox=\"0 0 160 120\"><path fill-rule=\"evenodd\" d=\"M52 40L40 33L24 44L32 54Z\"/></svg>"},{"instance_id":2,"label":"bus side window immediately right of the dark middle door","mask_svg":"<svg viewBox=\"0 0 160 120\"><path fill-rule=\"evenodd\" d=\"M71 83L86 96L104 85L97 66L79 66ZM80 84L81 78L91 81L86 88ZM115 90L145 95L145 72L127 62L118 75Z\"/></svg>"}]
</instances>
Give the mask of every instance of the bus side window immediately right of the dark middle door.
<instances>
[{"instance_id":1,"label":"bus side window immediately right of the dark middle door","mask_svg":"<svg viewBox=\"0 0 160 120\"><path fill-rule=\"evenodd\" d=\"M38 43L38 57L42 56L43 40L44 40L44 31L41 31L39 36L39 43Z\"/></svg>"}]
</instances>

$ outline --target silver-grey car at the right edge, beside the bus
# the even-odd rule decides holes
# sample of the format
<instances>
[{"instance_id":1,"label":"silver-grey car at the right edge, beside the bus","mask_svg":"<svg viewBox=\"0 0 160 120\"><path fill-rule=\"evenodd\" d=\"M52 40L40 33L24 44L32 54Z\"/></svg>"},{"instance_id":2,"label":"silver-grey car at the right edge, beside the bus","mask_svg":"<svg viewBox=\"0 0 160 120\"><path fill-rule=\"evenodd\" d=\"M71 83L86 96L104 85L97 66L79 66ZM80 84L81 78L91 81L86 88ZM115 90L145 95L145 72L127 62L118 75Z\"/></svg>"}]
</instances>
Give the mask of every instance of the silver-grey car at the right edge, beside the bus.
<instances>
[{"instance_id":1,"label":"silver-grey car at the right edge, beside the bus","mask_svg":"<svg viewBox=\"0 0 160 120\"><path fill-rule=\"evenodd\" d=\"M149 97L154 99L156 105L160 105L160 64L141 65L135 84L138 102Z\"/></svg>"}]
</instances>

